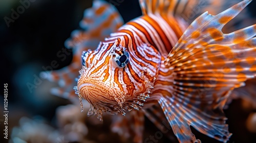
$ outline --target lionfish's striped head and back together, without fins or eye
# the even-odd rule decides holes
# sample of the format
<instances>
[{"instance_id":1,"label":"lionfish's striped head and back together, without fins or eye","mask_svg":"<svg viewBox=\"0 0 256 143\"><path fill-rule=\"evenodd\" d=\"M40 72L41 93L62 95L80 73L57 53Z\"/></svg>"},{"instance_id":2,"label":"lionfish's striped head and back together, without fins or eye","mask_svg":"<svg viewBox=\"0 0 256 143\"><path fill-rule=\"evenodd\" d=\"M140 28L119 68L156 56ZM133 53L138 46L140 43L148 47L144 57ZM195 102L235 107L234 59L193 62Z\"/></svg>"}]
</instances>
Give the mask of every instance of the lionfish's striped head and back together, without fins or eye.
<instances>
[{"instance_id":1,"label":"lionfish's striped head and back together, without fins or eye","mask_svg":"<svg viewBox=\"0 0 256 143\"><path fill-rule=\"evenodd\" d=\"M125 114L131 107L138 109L150 96L163 60L160 53L166 57L184 30L178 27L179 21L165 18L153 14L136 18L105 38L95 51L82 56L85 66L80 70L77 89L100 120L102 111ZM120 68L114 58L123 47L130 53L130 62Z\"/></svg>"}]
</instances>

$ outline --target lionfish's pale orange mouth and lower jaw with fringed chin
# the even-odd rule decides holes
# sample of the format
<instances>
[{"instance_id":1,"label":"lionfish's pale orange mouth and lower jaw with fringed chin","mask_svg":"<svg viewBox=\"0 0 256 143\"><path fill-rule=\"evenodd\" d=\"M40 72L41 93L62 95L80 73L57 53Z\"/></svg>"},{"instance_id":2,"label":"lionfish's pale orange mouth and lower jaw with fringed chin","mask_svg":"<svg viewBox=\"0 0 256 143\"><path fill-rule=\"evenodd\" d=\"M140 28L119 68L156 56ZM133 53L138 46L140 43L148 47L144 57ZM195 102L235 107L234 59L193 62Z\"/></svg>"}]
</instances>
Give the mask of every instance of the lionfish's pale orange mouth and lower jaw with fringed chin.
<instances>
[{"instance_id":1,"label":"lionfish's pale orange mouth and lower jaw with fringed chin","mask_svg":"<svg viewBox=\"0 0 256 143\"><path fill-rule=\"evenodd\" d=\"M135 96L128 95L115 87L106 85L101 82L91 83L89 81L81 83L74 87L78 94L81 111L83 108L82 97L90 103L88 115L96 115L102 121L102 113L115 115L118 112L125 115L125 111L131 111L133 108L139 110L146 98L149 98L150 89L145 93ZM133 97L132 99L127 97Z\"/></svg>"}]
</instances>

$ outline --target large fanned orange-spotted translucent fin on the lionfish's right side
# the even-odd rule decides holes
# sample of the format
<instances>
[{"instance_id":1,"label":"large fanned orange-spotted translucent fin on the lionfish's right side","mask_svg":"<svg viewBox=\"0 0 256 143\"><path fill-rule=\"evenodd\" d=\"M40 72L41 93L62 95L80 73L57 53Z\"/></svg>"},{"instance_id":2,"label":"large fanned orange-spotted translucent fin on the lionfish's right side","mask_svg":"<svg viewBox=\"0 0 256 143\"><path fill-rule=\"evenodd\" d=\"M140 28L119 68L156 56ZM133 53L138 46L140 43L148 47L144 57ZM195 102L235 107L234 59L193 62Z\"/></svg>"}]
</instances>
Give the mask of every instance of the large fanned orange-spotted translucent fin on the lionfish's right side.
<instances>
[{"instance_id":1,"label":"large fanned orange-spotted translucent fin on the lionfish's right side","mask_svg":"<svg viewBox=\"0 0 256 143\"><path fill-rule=\"evenodd\" d=\"M231 135L223 107L231 91L256 76L256 25L223 34L222 28L251 0L212 16L199 16L164 64L173 71L172 97L159 104L180 142L197 142L189 126L226 142Z\"/></svg>"}]
</instances>

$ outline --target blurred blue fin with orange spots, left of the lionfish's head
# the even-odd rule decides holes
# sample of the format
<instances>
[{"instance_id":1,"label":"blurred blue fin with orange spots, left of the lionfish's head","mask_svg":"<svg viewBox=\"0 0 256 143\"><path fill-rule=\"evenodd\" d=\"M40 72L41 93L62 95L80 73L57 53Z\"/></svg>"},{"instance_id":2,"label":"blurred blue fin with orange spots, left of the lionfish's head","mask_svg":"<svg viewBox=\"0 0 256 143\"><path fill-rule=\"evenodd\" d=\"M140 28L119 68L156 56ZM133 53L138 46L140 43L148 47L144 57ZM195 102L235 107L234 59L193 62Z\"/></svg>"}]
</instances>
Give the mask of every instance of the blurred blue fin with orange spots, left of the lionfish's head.
<instances>
[{"instance_id":1,"label":"blurred blue fin with orange spots, left of the lionfish's head","mask_svg":"<svg viewBox=\"0 0 256 143\"><path fill-rule=\"evenodd\" d=\"M69 99L74 97L76 94L73 87L82 66L82 51L96 49L101 40L115 32L122 24L123 20L114 6L94 0L92 8L84 11L84 17L80 22L82 30L73 31L71 38L65 42L66 47L73 48L72 63L59 70L41 73L42 78L58 82L59 87L51 89L52 94Z\"/></svg>"}]
</instances>

